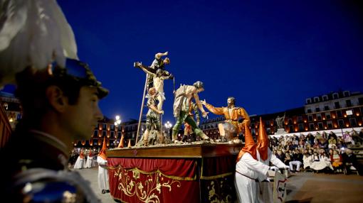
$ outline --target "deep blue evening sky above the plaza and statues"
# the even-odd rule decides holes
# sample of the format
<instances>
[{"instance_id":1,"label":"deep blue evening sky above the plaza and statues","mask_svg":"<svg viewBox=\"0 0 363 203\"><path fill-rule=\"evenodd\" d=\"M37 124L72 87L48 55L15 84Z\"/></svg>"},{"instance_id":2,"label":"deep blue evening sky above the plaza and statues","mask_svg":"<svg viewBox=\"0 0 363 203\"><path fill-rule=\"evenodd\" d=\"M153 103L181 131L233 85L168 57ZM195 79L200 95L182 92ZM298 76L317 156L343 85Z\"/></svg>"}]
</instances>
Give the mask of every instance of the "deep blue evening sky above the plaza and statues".
<instances>
[{"instance_id":1,"label":"deep blue evening sky above the plaza and statues","mask_svg":"<svg viewBox=\"0 0 363 203\"><path fill-rule=\"evenodd\" d=\"M88 62L110 95L105 116L138 119L144 72L157 52L179 84L204 82L201 99L248 114L304 105L338 89L361 91L362 4L353 1L71 1L59 0ZM164 121L172 118L172 80L165 81ZM146 114L146 109L144 113Z\"/></svg>"}]
</instances>

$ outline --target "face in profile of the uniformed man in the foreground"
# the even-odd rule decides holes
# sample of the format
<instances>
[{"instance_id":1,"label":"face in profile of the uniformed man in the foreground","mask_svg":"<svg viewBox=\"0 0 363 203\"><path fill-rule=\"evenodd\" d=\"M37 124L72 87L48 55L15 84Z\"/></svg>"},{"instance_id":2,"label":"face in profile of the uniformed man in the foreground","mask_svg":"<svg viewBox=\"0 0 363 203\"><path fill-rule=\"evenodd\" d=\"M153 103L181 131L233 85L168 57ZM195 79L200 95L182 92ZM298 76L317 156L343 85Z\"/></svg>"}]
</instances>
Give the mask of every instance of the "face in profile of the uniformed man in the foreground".
<instances>
[{"instance_id":1,"label":"face in profile of the uniformed man in the foreground","mask_svg":"<svg viewBox=\"0 0 363 203\"><path fill-rule=\"evenodd\" d=\"M80 88L77 103L67 105L63 115L64 128L74 135L74 138L90 138L96 124L103 117L98 100L97 88L83 86Z\"/></svg>"}]
</instances>

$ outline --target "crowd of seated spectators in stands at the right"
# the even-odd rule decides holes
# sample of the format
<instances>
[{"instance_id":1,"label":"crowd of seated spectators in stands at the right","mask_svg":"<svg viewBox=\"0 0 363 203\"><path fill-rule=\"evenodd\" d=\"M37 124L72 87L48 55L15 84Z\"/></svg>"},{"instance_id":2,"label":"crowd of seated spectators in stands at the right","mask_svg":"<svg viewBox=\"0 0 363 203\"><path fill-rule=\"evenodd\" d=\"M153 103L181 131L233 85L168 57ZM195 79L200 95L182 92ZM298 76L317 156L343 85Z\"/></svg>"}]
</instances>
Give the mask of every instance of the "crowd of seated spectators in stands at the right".
<instances>
[{"instance_id":1,"label":"crowd of seated spectators in stands at the right","mask_svg":"<svg viewBox=\"0 0 363 203\"><path fill-rule=\"evenodd\" d=\"M349 149L362 145L363 128L359 133L345 131L341 136L322 132L270 138L271 150L285 165L290 166L291 172L305 170L347 174L354 170L363 175L362 166Z\"/></svg>"}]
</instances>

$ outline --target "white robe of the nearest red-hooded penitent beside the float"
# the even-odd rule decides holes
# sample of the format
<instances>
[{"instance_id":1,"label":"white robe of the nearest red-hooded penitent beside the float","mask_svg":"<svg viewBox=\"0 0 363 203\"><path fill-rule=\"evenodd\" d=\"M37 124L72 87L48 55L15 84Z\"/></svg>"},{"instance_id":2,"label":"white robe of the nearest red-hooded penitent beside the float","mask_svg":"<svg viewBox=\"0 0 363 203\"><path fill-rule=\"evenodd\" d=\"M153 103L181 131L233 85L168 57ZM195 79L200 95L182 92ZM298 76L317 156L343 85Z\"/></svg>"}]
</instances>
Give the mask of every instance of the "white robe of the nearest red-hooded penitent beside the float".
<instances>
[{"instance_id":1,"label":"white robe of the nearest red-hooded penitent beside the float","mask_svg":"<svg viewBox=\"0 0 363 203\"><path fill-rule=\"evenodd\" d=\"M254 159L251 154L244 153L236 164L235 186L238 202L258 202L258 181L267 179L268 165Z\"/></svg>"}]
</instances>

